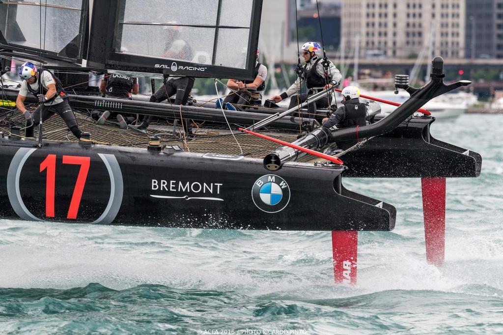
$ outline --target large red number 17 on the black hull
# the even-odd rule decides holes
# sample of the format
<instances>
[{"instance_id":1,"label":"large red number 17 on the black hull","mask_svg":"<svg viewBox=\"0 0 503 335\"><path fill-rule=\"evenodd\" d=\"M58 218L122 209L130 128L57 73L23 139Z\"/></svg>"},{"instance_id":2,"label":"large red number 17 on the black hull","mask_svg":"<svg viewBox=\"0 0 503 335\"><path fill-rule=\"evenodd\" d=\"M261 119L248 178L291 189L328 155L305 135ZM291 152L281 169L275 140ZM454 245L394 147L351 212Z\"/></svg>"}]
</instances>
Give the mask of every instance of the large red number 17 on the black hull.
<instances>
[{"instance_id":1,"label":"large red number 17 on the black hull","mask_svg":"<svg viewBox=\"0 0 503 335\"><path fill-rule=\"evenodd\" d=\"M82 192L88 178L89 165L91 157L82 156L63 156L63 164L79 164L77 182L71 196L70 208L68 209L67 219L76 219ZM45 216L54 217L54 189L56 184L56 155L47 155L47 158L40 163L40 172L47 170L47 178L45 184Z\"/></svg>"}]
</instances>

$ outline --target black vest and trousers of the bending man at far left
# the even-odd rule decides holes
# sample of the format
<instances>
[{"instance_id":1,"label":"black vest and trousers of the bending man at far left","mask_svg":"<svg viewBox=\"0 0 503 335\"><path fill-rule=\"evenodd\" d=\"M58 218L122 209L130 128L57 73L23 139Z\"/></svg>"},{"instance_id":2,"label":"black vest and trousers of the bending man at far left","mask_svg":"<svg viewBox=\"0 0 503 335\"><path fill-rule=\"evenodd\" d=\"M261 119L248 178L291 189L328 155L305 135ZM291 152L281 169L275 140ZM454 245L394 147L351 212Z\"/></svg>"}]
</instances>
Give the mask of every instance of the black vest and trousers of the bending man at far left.
<instances>
[{"instance_id":1,"label":"black vest and trousers of the bending man at far left","mask_svg":"<svg viewBox=\"0 0 503 335\"><path fill-rule=\"evenodd\" d=\"M48 71L48 70L44 70ZM80 129L78 129L77 125L77 120L75 119L75 115L73 114L73 111L71 110L70 104L68 104L68 98L66 97L66 93L63 90L63 86L61 83L61 80L59 80L58 77L56 77L52 72L48 71L52 77L54 78L54 81L56 82L56 94L54 97L51 99L47 100L46 102L54 102L54 100L59 96L63 99L62 102L57 103L57 104L51 104L50 106L45 106L44 104L40 104L38 108L33 112L32 118L33 118L33 123L30 126L26 127L25 134L26 137L33 137L33 132L34 132L34 127L37 126L40 123L40 114L42 112L43 108L43 117L42 117L42 122L45 120L49 119L51 116L54 114L58 114L63 121L66 123L66 126L68 129L73 133L73 135L76 138L80 138L82 132ZM38 75L38 85L39 88L42 86L42 94L45 95L49 90L43 87L41 83L41 77L42 73L39 73ZM27 82L26 86L28 88L28 91L33 94L34 96L37 97L38 94L40 94L40 90L33 90L30 86L30 84ZM30 121L28 121L30 123Z\"/></svg>"}]
</instances>

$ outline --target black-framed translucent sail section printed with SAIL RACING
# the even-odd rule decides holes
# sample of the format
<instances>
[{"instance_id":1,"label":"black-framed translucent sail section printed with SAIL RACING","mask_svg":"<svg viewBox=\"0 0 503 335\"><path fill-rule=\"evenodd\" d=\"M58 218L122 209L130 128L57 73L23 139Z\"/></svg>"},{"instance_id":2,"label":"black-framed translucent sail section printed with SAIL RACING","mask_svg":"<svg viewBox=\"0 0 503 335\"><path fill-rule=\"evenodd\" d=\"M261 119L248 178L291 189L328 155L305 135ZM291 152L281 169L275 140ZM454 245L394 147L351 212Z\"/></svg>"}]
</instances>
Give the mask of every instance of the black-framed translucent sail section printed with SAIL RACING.
<instances>
[{"instance_id":1,"label":"black-framed translucent sail section printed with SAIL RACING","mask_svg":"<svg viewBox=\"0 0 503 335\"><path fill-rule=\"evenodd\" d=\"M175 76L242 77L255 68L262 0L102 0L88 64Z\"/></svg>"}]
</instances>

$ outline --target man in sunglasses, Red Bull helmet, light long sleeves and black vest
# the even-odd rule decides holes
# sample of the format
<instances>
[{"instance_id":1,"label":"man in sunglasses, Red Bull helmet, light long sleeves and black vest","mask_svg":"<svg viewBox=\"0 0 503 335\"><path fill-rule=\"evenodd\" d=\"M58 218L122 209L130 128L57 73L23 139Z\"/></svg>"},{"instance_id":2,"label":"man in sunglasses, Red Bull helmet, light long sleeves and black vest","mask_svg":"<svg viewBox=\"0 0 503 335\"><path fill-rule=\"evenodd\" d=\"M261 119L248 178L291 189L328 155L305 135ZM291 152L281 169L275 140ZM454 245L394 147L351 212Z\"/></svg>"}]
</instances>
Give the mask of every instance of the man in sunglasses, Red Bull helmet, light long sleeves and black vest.
<instances>
[{"instance_id":1,"label":"man in sunglasses, Red Bull helmet, light long sleeves and black vest","mask_svg":"<svg viewBox=\"0 0 503 335\"><path fill-rule=\"evenodd\" d=\"M325 70L323 67L323 59L319 57L321 53L321 46L317 42L307 42L302 46L302 57L306 64L303 66L303 74L301 78L297 78L295 82L290 86L288 90L283 92L279 96L274 96L273 99L276 103L279 103L283 99L287 97L290 98L290 106L288 109L291 109L297 104L305 102L309 96L316 94L322 90L332 87L332 83L334 85L338 85L341 81L342 75L339 69L333 65L332 62L328 62L328 68ZM306 86L309 89L309 92L306 94L296 95L300 91L300 80L304 80L306 82ZM294 95L295 94L295 95ZM309 113L315 113L316 107L318 108L328 108L331 102L330 98L319 99L316 103L309 104L308 110Z\"/></svg>"}]
</instances>

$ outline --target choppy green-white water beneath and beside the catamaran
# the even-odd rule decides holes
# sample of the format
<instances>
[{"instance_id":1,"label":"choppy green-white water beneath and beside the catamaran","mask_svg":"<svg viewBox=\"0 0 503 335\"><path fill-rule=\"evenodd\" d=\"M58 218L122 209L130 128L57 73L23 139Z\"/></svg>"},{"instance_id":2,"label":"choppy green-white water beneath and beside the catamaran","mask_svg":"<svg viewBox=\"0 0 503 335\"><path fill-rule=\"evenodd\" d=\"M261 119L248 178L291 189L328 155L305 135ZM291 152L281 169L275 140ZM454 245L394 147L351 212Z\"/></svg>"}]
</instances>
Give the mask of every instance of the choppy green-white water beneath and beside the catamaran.
<instances>
[{"instance_id":1,"label":"choppy green-white water beneath and beside the catamaran","mask_svg":"<svg viewBox=\"0 0 503 335\"><path fill-rule=\"evenodd\" d=\"M398 211L394 231L359 234L356 287L333 284L329 232L0 220L0 333L502 333L501 129L500 115L432 126L483 156L479 178L447 181L441 269L417 179L345 180Z\"/></svg>"}]
</instances>

